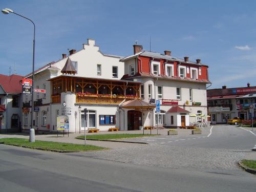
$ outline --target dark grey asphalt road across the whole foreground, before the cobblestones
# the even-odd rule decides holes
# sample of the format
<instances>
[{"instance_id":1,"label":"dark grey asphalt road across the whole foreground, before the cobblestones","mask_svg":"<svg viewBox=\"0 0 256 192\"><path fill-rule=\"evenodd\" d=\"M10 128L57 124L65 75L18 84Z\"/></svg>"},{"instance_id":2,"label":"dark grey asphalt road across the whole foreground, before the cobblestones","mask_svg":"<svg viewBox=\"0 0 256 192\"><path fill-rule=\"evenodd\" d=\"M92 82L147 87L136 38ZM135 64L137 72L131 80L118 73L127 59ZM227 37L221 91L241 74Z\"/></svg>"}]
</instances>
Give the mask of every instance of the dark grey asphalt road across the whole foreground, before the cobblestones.
<instances>
[{"instance_id":1,"label":"dark grey asphalt road across the whole foreground, before the cobblestones","mask_svg":"<svg viewBox=\"0 0 256 192\"><path fill-rule=\"evenodd\" d=\"M0 190L31 191L255 191L246 172L148 167L0 144Z\"/></svg>"}]
</instances>

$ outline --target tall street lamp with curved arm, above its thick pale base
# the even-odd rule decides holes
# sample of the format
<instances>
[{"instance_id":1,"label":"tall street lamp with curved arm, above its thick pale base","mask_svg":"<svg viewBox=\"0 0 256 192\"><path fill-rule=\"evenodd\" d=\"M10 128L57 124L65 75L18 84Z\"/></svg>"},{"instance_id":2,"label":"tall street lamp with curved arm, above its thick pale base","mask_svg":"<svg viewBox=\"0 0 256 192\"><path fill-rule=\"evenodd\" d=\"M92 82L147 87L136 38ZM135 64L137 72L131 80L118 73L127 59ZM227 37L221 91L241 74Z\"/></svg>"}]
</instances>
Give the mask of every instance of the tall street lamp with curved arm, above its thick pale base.
<instances>
[{"instance_id":1,"label":"tall street lamp with curved arm, above its thick pale base","mask_svg":"<svg viewBox=\"0 0 256 192\"><path fill-rule=\"evenodd\" d=\"M34 68L35 68L35 24L33 22L33 20L25 17L25 16L22 16L18 13L15 13L13 10L9 9L9 8L5 8L2 10L2 13L4 14L9 14L9 13L13 13L15 15L18 15L20 17L23 17L27 20L29 20L33 26L34 26L34 39L33 39L33 71L32 71L32 93L31 93L31 100L32 100L32 103L31 103L31 129L33 129L33 108L34 108L34 102L33 102L33 92L34 92Z\"/></svg>"}]
</instances>

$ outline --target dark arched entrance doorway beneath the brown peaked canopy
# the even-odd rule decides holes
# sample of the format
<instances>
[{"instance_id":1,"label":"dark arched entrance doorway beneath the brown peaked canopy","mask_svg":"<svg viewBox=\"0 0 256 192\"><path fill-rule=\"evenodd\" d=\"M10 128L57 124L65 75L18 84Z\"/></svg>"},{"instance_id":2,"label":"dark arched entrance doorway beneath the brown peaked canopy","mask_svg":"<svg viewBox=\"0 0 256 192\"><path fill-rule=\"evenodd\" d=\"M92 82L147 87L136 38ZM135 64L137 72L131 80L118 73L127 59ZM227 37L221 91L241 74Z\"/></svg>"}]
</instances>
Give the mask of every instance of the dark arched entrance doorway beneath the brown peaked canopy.
<instances>
[{"instance_id":1,"label":"dark arched entrance doorway beneath the brown peaked canopy","mask_svg":"<svg viewBox=\"0 0 256 192\"><path fill-rule=\"evenodd\" d=\"M139 130L139 126L142 125L142 113L141 111L131 110L127 112L128 130Z\"/></svg>"}]
</instances>

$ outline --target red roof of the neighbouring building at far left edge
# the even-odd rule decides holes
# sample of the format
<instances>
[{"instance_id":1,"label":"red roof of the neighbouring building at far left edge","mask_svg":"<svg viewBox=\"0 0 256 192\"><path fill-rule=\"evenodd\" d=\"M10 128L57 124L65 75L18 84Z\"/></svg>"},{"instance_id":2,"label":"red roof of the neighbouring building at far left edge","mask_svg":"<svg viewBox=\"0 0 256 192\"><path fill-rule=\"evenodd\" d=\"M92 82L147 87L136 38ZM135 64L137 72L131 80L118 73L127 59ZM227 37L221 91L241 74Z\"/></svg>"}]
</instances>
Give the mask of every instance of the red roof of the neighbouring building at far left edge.
<instances>
[{"instance_id":1,"label":"red roof of the neighbouring building at far left edge","mask_svg":"<svg viewBox=\"0 0 256 192\"><path fill-rule=\"evenodd\" d=\"M21 75L2 75L0 74L0 85L6 93L22 93L22 85L19 83L23 79Z\"/></svg>"}]
</instances>

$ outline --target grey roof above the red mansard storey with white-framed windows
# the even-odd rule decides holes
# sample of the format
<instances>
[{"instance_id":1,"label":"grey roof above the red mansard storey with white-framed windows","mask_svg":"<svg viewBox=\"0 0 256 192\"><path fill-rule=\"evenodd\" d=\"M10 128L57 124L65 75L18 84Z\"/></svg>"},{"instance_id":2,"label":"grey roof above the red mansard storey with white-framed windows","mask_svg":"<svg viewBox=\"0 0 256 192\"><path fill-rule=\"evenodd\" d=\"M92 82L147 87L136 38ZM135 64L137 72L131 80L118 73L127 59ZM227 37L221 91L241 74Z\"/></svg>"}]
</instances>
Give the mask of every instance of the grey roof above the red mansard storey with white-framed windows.
<instances>
[{"instance_id":1,"label":"grey roof above the red mansard storey with white-framed windows","mask_svg":"<svg viewBox=\"0 0 256 192\"><path fill-rule=\"evenodd\" d=\"M159 58L159 59L166 59L166 60L170 60L170 61L185 62L184 59L181 59L181 58L177 58L177 57L173 57L173 56L169 56L169 55L164 55L164 54L156 53L156 52L149 52L149 51L141 51L141 52L136 53L134 55L124 57L124 58L121 59L121 61L130 59L130 58L133 58L133 57L137 57L139 55L146 56L146 57ZM193 64L193 65L200 65L200 66L202 65L202 63L198 64L198 63L193 62L193 61L188 61L188 62L185 62L185 63L189 63L189 64Z\"/></svg>"}]
</instances>

